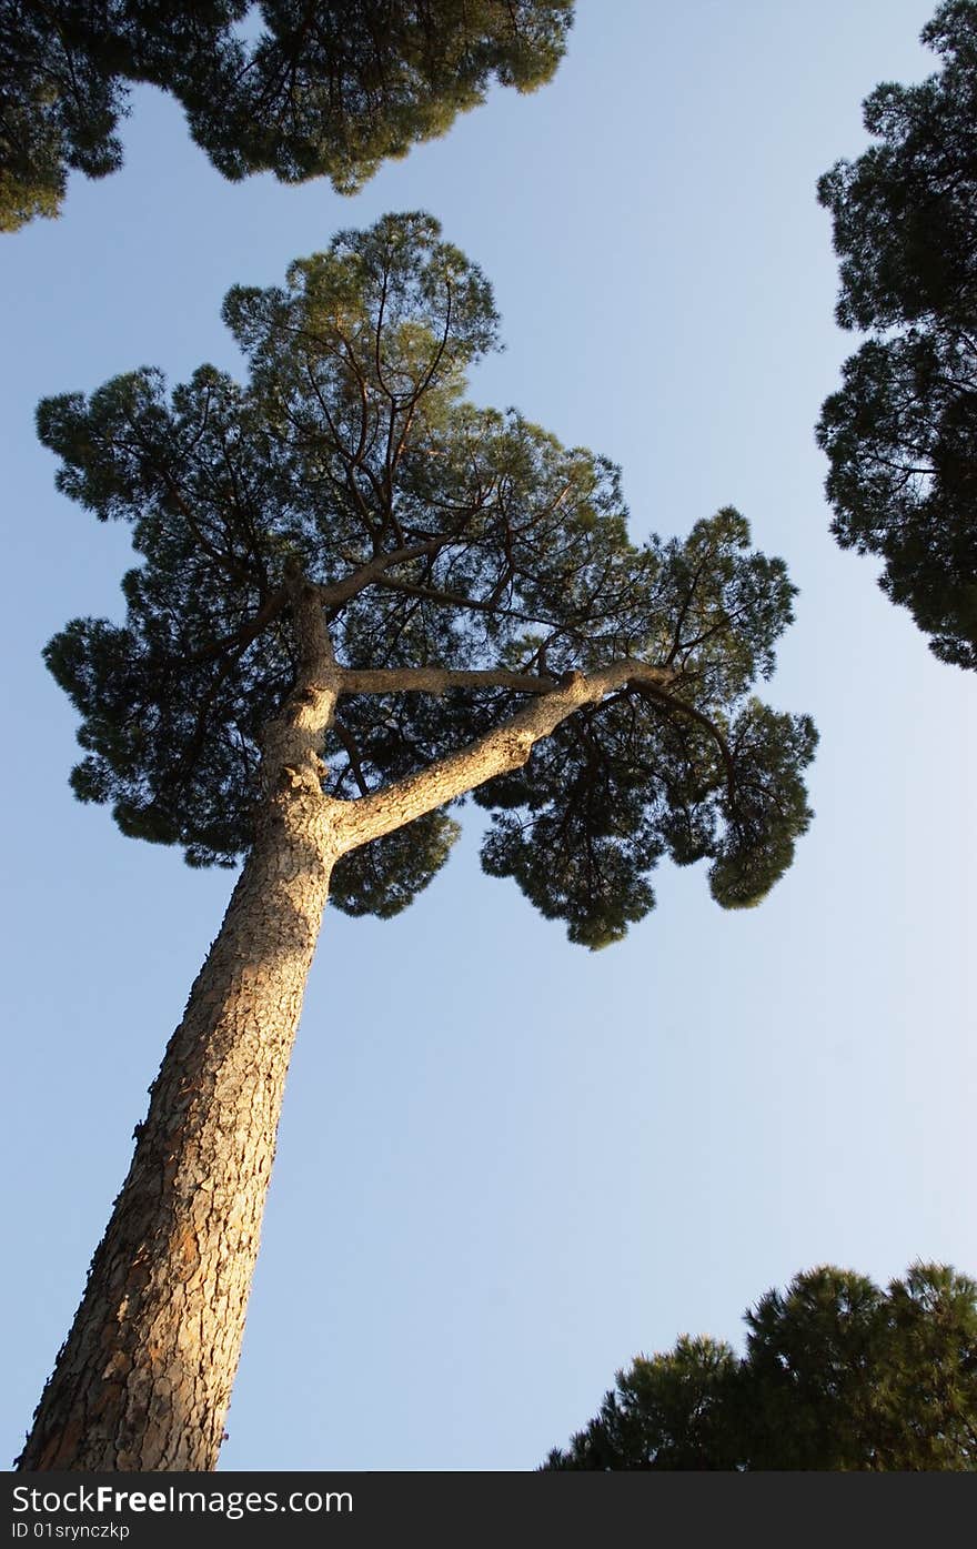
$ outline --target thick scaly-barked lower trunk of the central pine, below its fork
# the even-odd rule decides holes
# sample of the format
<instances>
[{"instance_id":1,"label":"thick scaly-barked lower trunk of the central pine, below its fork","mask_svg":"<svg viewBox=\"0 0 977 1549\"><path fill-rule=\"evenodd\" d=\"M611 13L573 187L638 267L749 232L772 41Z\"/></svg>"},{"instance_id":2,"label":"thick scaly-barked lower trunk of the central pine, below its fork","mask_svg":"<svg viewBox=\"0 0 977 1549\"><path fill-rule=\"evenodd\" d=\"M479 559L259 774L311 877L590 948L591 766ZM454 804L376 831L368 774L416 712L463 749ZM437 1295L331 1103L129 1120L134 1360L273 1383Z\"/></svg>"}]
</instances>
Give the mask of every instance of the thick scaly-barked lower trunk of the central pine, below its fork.
<instances>
[{"instance_id":1,"label":"thick scaly-barked lower trunk of the central pine, below its fork","mask_svg":"<svg viewBox=\"0 0 977 1549\"><path fill-rule=\"evenodd\" d=\"M262 836L152 1087L20 1468L217 1465L331 861Z\"/></svg>"}]
</instances>

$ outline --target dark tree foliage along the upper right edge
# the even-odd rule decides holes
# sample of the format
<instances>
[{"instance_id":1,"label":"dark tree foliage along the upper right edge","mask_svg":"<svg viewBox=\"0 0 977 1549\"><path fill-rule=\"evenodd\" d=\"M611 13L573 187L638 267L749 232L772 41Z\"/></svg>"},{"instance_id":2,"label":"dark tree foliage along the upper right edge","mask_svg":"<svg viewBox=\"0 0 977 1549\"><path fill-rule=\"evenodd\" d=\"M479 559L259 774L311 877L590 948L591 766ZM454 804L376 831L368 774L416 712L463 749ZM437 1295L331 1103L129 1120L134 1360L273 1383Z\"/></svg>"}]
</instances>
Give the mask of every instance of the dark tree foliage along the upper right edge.
<instances>
[{"instance_id":1,"label":"dark tree foliage along the upper right edge","mask_svg":"<svg viewBox=\"0 0 977 1549\"><path fill-rule=\"evenodd\" d=\"M818 184L838 321L873 335L818 440L842 548L881 555L883 590L934 654L977 668L977 0L941 5L923 42L940 74L876 87L864 121L878 144Z\"/></svg>"}]
</instances>

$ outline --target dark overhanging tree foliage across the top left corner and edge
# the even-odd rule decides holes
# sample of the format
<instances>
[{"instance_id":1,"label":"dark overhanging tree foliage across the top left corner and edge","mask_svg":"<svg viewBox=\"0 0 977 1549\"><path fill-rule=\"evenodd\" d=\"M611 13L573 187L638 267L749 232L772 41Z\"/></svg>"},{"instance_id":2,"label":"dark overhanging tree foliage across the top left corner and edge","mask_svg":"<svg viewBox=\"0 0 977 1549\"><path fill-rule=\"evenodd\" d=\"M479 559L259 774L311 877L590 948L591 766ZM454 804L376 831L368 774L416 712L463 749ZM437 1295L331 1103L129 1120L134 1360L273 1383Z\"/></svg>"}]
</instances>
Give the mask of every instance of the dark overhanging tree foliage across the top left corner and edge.
<instances>
[{"instance_id":1,"label":"dark overhanging tree foliage across the top left corner and edge","mask_svg":"<svg viewBox=\"0 0 977 1549\"><path fill-rule=\"evenodd\" d=\"M573 0L0 0L0 231L56 215L68 169L118 170L129 84L172 91L229 178L328 175L355 194L492 81L533 91Z\"/></svg>"}]
</instances>

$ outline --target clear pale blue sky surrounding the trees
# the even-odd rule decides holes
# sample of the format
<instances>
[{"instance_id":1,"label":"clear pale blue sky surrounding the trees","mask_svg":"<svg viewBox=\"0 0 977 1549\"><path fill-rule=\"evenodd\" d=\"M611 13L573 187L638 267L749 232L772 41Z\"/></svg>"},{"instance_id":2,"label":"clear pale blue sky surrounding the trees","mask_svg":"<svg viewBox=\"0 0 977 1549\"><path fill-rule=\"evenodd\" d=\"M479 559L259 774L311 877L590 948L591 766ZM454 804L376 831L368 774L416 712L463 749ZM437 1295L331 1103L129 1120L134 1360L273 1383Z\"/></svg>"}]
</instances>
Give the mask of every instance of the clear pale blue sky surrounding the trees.
<instances>
[{"instance_id":1,"label":"clear pale blue sky surrounding the trees","mask_svg":"<svg viewBox=\"0 0 977 1549\"><path fill-rule=\"evenodd\" d=\"M800 1269L977 1275L977 683L830 538L813 434L858 344L814 183L866 147L878 81L935 68L931 11L579 0L550 87L492 91L355 198L225 183L139 88L124 170L0 239L3 1458L232 886L71 798L40 651L121 617L130 551L54 489L34 406L138 366L238 372L225 291L387 211L435 214L495 287L477 401L619 462L636 539L732 503L785 558L765 694L819 726L816 818L759 909L666 864L655 912L595 954L480 872L469 809L407 914L327 911L220 1467L534 1468L633 1355L740 1346Z\"/></svg>"}]
</instances>

